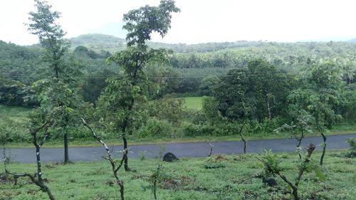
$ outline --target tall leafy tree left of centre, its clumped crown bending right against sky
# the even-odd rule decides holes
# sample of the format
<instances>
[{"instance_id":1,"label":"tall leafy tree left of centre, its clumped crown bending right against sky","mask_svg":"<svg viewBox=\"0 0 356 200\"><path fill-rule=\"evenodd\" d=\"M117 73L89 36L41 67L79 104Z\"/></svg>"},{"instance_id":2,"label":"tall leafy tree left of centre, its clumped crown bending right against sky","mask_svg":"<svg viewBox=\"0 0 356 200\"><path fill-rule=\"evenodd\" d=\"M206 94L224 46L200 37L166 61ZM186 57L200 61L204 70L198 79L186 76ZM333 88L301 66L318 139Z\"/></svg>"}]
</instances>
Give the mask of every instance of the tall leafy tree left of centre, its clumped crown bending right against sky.
<instances>
[{"instance_id":1,"label":"tall leafy tree left of centre, its clumped crown bending right against sky","mask_svg":"<svg viewBox=\"0 0 356 200\"><path fill-rule=\"evenodd\" d=\"M172 12L179 9L172 0L162 0L159 6L143 6L129 11L124 15L123 28L127 33L127 48L108 58L122 70L122 78L108 80L108 86L99 99L100 110L106 120L112 120L118 135L124 144L124 167L129 171L127 159L127 134L135 125L135 103L147 99L150 81L145 75L145 67L149 63L167 61L167 53L163 48L152 49L146 44L150 41L151 33L157 32L164 37L170 28ZM105 114L106 113L106 114Z\"/></svg>"}]
</instances>

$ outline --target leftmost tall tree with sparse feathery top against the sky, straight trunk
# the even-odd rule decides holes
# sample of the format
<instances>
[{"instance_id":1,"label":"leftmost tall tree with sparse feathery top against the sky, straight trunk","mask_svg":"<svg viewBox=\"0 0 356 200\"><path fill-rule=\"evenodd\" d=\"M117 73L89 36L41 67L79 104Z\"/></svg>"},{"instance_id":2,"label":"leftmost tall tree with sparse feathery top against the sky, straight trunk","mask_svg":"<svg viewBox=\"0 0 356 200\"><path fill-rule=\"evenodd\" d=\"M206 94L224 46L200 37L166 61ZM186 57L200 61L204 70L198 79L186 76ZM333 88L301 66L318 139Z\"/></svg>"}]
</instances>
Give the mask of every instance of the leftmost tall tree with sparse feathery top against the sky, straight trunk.
<instances>
[{"instance_id":1,"label":"leftmost tall tree with sparse feathery top against the sky, straight trunk","mask_svg":"<svg viewBox=\"0 0 356 200\"><path fill-rule=\"evenodd\" d=\"M61 17L58 11L51 11L47 1L35 0L37 11L31 11L28 18L28 31L38 36L41 46L45 50L43 61L48 63L48 77L36 82L41 95L38 100L45 110L61 110L58 112L57 125L63 132L64 163L69 162L68 154L68 125L73 108L78 105L78 97L73 90L75 75L79 68L75 60L66 59L70 47L63 38L66 33L56 21Z\"/></svg>"}]
</instances>

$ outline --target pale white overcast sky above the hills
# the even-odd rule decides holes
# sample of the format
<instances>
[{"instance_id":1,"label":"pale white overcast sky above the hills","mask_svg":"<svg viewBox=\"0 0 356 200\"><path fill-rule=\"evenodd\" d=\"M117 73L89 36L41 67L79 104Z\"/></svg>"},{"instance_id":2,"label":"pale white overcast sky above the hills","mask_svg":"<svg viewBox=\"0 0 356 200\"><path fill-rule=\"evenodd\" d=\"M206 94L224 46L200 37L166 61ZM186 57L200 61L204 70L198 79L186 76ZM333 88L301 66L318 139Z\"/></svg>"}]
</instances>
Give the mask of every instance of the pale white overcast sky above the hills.
<instances>
[{"instance_id":1,"label":"pale white overcast sky above the hills","mask_svg":"<svg viewBox=\"0 0 356 200\"><path fill-rule=\"evenodd\" d=\"M122 14L159 0L49 0L60 11L66 37L104 33L120 38ZM0 0L0 40L36 43L23 23L35 11L31 0ZM339 41L356 38L355 0L177 0L165 43L224 41Z\"/></svg>"}]
</instances>

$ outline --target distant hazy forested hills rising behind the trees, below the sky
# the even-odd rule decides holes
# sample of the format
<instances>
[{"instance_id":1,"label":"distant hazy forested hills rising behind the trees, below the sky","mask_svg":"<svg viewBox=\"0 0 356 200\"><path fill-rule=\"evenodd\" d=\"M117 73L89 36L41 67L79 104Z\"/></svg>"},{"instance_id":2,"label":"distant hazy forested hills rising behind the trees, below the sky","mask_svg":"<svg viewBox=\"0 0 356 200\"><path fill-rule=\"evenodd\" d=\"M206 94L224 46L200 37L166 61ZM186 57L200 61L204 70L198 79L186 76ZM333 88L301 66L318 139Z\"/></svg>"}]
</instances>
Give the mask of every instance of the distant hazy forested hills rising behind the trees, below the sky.
<instances>
[{"instance_id":1,"label":"distant hazy forested hills rising behind the trees, below the sky","mask_svg":"<svg viewBox=\"0 0 356 200\"><path fill-rule=\"evenodd\" d=\"M75 56L83 65L80 77L81 94L90 102L100 95L105 87L105 79L118 75L117 66L108 65L105 59L115 51L125 48L125 40L102 34L87 34L70 38L72 51L67 58ZM173 51L169 56L170 65L147 68L150 80L159 83L159 96L168 93L199 95L201 80L216 75L226 75L233 68L244 68L250 60L261 58L276 66L278 70L297 74L298 71L319 60L335 60L340 68L350 68L355 63L356 43L273 43L237 41L234 43L201 43L194 45L148 43L152 48L167 48ZM16 80L24 85L31 85L46 73L40 59L41 48L36 46L16 46L13 43L0 42L1 74L6 80ZM350 68L349 70L352 70ZM352 72L350 72L352 73ZM350 74L349 73L349 74ZM349 78L350 79L350 78ZM354 79L352 76L351 82ZM200 88L200 89L199 89ZM14 89L14 88L13 88ZM6 89L6 90L9 90ZM16 89L16 93L20 93ZM14 90L12 90L13 93ZM25 95L21 92L22 96ZM90 95L88 95L90 94ZM19 94L17 94L19 95ZM9 102L3 95L4 102ZM9 96L9 95L8 95ZM16 96L11 95L11 96ZM13 102L19 104L19 102Z\"/></svg>"}]
</instances>

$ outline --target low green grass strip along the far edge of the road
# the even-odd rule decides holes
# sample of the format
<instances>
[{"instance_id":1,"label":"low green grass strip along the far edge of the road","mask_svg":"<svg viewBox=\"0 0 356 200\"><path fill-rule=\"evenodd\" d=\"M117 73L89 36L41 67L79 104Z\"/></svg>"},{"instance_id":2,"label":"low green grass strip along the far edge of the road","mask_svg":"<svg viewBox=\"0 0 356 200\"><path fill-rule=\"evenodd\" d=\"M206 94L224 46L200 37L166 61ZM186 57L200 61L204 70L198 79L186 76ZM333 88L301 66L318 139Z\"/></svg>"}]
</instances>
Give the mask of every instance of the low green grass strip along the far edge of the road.
<instances>
[{"instance_id":1,"label":"low green grass strip along the far edge of the road","mask_svg":"<svg viewBox=\"0 0 356 200\"><path fill-rule=\"evenodd\" d=\"M185 99L185 98L184 98ZM196 97L194 100L199 99L202 100L202 97ZM194 101L194 104L190 104L192 107L197 107L197 101ZM185 105L188 107L187 102L184 102ZM199 105L198 107L200 107ZM28 130L26 126L26 122L29 120L29 115L31 114L32 108L26 107L14 107L14 106L6 106L0 105L1 107L1 115L0 115L0 125L6 125L8 127L8 131L11 135L14 136L14 139L11 140L9 143L6 144L6 147L14 147L14 148L21 148L21 147L33 147L29 140ZM194 110L199 110L194 108ZM15 128L16 127L16 128ZM169 130L167 127L166 130ZM161 130L158 130L161 131ZM336 125L333 127L332 130L325 133L325 135L347 135L347 134L354 134L356 132L356 125L352 125L350 123L343 123L340 125ZM79 128L70 130L70 138L69 138L69 147L93 147L93 146L100 146L96 140L90 137L90 131ZM115 137L112 137L110 133L103 133L101 136L105 138L105 141L108 145L117 144L120 145L121 142L118 142ZM140 133L145 135L146 133ZM138 135L138 133L134 133L129 135L128 138L132 144L155 144L155 143L170 143L170 142L204 142L204 141L240 141L241 138L239 135L185 135L183 130L175 129L174 135L167 134L164 136L155 136L155 135L146 135L142 137L142 135ZM305 137L313 137L315 132L305 132ZM283 139L283 138L292 138L293 136L290 135L290 131L283 129L281 131L274 131L274 132L263 132L263 131L256 131L256 132L248 132L245 135L246 140L268 140L268 139ZM43 148L49 147L56 147L60 148L63 147L63 142L59 139L56 139L56 135L52 135L51 139L48 140L44 145Z\"/></svg>"}]
</instances>

